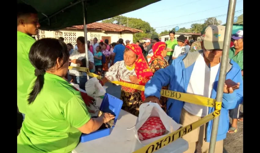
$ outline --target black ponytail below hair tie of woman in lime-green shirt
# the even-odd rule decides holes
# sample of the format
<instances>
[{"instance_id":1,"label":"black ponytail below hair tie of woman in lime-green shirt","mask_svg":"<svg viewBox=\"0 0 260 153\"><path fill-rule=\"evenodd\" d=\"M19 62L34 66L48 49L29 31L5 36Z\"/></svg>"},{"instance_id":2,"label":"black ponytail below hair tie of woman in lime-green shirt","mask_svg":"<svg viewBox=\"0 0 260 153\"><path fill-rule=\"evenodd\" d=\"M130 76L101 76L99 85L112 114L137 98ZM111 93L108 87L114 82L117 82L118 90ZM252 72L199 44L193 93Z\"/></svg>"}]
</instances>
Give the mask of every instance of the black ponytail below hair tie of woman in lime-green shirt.
<instances>
[{"instance_id":1,"label":"black ponytail below hair tie of woman in lime-green shirt","mask_svg":"<svg viewBox=\"0 0 260 153\"><path fill-rule=\"evenodd\" d=\"M43 88L43 84L44 84L44 73L45 70L39 70L39 69L35 69L34 71L34 75L37 76L35 82L34 82L34 86L32 88L32 92L29 94L29 98L28 98L28 102L29 104L31 104L32 102L34 102L34 100L36 99L37 95L41 92L42 88Z\"/></svg>"}]
</instances>

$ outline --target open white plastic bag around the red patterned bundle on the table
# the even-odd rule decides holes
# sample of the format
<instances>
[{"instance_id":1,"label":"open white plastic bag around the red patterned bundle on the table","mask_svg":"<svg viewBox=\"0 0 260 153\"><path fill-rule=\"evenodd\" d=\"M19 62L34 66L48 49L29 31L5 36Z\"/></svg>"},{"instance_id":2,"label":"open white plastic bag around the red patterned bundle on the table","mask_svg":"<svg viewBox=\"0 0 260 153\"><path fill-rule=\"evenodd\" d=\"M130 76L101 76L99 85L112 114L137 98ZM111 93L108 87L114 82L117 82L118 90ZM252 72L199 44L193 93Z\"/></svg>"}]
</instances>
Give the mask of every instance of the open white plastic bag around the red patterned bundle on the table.
<instances>
[{"instance_id":1,"label":"open white plastic bag around the red patterned bundle on the table","mask_svg":"<svg viewBox=\"0 0 260 153\"><path fill-rule=\"evenodd\" d=\"M163 125L165 126L165 129L167 130L165 135L176 131L179 129L182 125L176 123L171 117L169 117L164 110L159 106L158 103L143 103L139 107L139 116L138 116L138 123L136 123L134 127L134 133L136 139L143 144L144 146L147 144L150 144L151 142L154 142L155 140L158 140L165 135L158 136L152 139L143 140L140 141L137 131L142 127L142 125L145 123L145 121L152 116L159 117L162 120Z\"/></svg>"}]
</instances>

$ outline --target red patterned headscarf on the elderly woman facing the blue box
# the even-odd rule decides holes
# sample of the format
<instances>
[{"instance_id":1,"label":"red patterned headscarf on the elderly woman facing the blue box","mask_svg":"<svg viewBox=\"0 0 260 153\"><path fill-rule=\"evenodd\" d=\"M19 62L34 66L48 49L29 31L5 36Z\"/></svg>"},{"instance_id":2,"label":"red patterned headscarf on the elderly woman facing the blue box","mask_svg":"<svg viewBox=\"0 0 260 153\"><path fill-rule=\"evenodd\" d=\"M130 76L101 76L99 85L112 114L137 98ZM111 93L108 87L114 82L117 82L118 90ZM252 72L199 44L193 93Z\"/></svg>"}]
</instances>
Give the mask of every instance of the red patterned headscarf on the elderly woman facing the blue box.
<instances>
[{"instance_id":1,"label":"red patterned headscarf on the elderly woman facing the blue box","mask_svg":"<svg viewBox=\"0 0 260 153\"><path fill-rule=\"evenodd\" d=\"M143 57L142 49L138 45L131 43L126 46L126 48L132 50L135 54L138 55L138 60L135 62L135 72L137 79L140 85L145 85L153 76L152 70L150 69L149 65L147 64L146 60ZM141 94L142 100L144 101L144 92L142 91Z\"/></svg>"}]
</instances>

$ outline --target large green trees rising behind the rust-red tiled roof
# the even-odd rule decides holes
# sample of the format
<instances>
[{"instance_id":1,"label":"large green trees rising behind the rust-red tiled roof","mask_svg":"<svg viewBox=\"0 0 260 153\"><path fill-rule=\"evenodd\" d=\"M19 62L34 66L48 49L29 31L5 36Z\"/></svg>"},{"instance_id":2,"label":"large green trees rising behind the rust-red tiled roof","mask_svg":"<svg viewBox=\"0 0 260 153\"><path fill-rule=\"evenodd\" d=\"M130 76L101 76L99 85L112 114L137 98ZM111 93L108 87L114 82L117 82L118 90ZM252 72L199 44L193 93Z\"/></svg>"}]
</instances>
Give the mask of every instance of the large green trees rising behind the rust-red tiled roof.
<instances>
[{"instance_id":1,"label":"large green trees rising behind the rust-red tiled roof","mask_svg":"<svg viewBox=\"0 0 260 153\"><path fill-rule=\"evenodd\" d=\"M151 35L158 35L158 33L155 32L155 29L151 27L148 22L137 18L116 16L103 20L102 23L118 24L129 28L142 30L144 33L139 32L133 35L133 43L135 43L137 40L140 41L142 38L150 38Z\"/></svg>"}]
</instances>

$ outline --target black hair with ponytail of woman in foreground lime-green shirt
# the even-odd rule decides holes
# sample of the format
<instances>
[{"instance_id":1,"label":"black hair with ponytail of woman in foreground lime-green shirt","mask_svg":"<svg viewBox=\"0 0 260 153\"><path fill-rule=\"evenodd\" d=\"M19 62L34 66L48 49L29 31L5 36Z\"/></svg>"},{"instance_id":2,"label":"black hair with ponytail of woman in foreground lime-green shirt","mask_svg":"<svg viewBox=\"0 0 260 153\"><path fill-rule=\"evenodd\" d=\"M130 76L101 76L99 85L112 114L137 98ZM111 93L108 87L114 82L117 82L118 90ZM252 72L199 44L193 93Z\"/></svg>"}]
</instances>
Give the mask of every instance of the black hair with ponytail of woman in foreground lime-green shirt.
<instances>
[{"instance_id":1,"label":"black hair with ponytail of woman in foreground lime-green shirt","mask_svg":"<svg viewBox=\"0 0 260 153\"><path fill-rule=\"evenodd\" d=\"M41 92L44 84L44 73L57 64L57 58L62 62L61 67L69 60L67 45L60 39L43 38L33 43L29 51L29 60L35 67L37 76L28 102L33 103Z\"/></svg>"}]
</instances>

